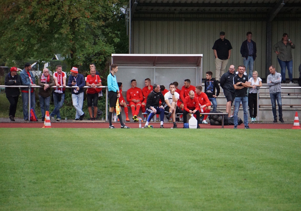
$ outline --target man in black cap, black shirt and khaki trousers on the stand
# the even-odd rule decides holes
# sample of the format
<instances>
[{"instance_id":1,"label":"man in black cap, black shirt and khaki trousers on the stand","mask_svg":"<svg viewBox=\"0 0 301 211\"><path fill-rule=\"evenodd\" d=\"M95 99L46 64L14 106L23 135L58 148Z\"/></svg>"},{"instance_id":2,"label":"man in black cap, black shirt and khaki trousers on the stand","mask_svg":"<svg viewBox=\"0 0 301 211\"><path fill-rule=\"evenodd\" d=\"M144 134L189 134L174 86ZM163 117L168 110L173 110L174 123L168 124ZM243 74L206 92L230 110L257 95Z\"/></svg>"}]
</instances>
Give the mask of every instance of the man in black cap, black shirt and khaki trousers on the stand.
<instances>
[{"instance_id":1,"label":"man in black cap, black shirt and khaki trousers on the stand","mask_svg":"<svg viewBox=\"0 0 301 211\"><path fill-rule=\"evenodd\" d=\"M218 83L225 73L232 49L230 41L225 39L225 32L220 32L219 36L220 39L216 40L212 47L215 55L215 79Z\"/></svg>"}]
</instances>

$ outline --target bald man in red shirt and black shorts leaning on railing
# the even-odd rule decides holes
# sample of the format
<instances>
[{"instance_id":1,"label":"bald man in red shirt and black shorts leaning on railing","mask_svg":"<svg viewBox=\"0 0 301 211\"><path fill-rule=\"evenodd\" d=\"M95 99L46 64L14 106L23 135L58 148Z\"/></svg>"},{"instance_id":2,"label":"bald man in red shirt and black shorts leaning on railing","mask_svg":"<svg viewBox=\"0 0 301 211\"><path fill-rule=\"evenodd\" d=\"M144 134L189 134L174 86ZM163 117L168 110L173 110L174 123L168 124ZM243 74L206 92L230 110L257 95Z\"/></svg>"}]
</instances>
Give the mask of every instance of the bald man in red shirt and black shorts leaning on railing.
<instances>
[{"instance_id":1,"label":"bald man in red shirt and black shorts leaning on railing","mask_svg":"<svg viewBox=\"0 0 301 211\"><path fill-rule=\"evenodd\" d=\"M97 104L98 104L98 93L102 90L101 87L101 79L98 75L96 75L95 68L90 69L90 75L87 75L86 86L92 87L87 89L87 103L88 103L88 111L90 115L90 121L96 121L97 115ZM94 105L94 112L92 115L92 101Z\"/></svg>"}]
</instances>

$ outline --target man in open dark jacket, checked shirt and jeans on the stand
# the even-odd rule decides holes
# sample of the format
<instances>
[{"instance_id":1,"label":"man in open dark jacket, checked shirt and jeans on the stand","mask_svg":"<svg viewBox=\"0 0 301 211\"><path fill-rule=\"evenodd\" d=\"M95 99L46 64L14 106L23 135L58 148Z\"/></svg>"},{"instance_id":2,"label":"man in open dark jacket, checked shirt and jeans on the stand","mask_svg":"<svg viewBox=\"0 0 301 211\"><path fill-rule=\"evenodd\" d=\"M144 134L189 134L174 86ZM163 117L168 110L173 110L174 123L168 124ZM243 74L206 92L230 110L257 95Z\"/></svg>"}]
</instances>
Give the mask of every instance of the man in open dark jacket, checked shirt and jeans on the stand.
<instances>
[{"instance_id":1,"label":"man in open dark jacket, checked shirt and jeans on the stand","mask_svg":"<svg viewBox=\"0 0 301 211\"><path fill-rule=\"evenodd\" d=\"M247 32L247 39L241 44L240 53L244 57L246 70L249 67L249 78L253 77L254 61L256 59L256 43L252 40L252 32Z\"/></svg>"}]
</instances>

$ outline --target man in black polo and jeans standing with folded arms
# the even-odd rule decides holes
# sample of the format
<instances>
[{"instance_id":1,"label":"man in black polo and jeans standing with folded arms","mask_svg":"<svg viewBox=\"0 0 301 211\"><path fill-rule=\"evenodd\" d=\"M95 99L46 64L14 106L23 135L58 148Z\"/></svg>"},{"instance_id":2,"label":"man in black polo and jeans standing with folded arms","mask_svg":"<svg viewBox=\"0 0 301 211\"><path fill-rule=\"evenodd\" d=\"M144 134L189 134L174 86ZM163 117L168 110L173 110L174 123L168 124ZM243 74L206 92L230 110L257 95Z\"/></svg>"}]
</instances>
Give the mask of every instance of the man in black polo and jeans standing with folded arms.
<instances>
[{"instance_id":1,"label":"man in black polo and jeans standing with folded arms","mask_svg":"<svg viewBox=\"0 0 301 211\"><path fill-rule=\"evenodd\" d=\"M244 109L244 128L250 129L248 121L248 94L247 87L249 87L249 77L244 75L244 67L238 66L238 75L233 78L233 85L235 89L234 99L234 129L237 129L238 121L237 114L240 102Z\"/></svg>"}]
</instances>

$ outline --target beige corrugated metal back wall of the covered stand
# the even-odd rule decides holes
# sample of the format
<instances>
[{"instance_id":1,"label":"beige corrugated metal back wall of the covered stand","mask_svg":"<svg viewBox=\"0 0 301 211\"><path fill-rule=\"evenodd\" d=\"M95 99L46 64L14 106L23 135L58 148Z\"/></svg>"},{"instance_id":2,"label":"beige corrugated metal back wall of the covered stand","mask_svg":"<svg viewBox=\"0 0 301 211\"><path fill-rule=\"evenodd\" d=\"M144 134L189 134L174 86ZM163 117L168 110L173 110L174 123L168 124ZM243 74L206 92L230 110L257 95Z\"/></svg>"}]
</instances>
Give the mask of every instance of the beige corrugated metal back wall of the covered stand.
<instances>
[{"instance_id":1,"label":"beige corrugated metal back wall of the covered stand","mask_svg":"<svg viewBox=\"0 0 301 211\"><path fill-rule=\"evenodd\" d=\"M254 70L258 71L259 77L265 78L266 66L266 22L256 21L210 21L210 20L170 20L166 17L153 21L134 20L132 31L132 53L146 54L203 54L203 78L206 71L215 73L215 62L213 44L219 39L219 32L225 31L225 38L233 47L231 58L227 65L235 67L243 64L240 54L240 46L247 39L246 33L253 33L253 41L257 46L257 58ZM220 16L223 20L223 16ZM166 21L163 21L166 20ZM238 19L237 19L238 20ZM301 22L300 21L274 21L272 23L272 46L282 38L284 32L288 33L290 39L296 44L293 50L293 77L299 77L298 67L301 52ZM272 49L271 49L272 52ZM276 54L272 52L272 64L280 67ZM288 78L288 74L287 74Z\"/></svg>"}]
</instances>

